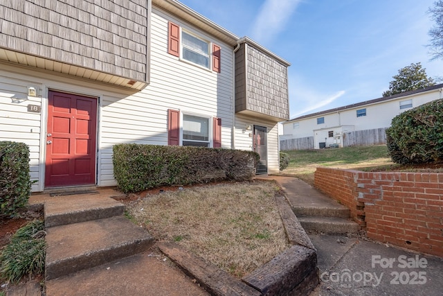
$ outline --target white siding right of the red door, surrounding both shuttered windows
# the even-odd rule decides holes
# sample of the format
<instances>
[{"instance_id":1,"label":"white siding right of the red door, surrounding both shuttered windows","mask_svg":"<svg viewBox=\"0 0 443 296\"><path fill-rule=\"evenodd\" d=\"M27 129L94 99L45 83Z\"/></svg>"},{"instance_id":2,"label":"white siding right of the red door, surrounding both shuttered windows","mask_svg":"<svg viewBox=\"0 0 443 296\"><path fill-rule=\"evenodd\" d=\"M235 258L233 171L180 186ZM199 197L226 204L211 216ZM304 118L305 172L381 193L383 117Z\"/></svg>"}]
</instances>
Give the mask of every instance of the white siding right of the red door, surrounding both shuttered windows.
<instances>
[{"instance_id":1,"label":"white siding right of the red door, surrounding both shuttered windows","mask_svg":"<svg viewBox=\"0 0 443 296\"><path fill-rule=\"evenodd\" d=\"M221 73L202 69L168 54L168 21L221 46ZM233 49L210 35L152 10L151 83L126 98L104 97L100 130L100 186L115 185L115 143L168 144L168 109L221 118L221 146L231 148L233 123Z\"/></svg>"}]
</instances>

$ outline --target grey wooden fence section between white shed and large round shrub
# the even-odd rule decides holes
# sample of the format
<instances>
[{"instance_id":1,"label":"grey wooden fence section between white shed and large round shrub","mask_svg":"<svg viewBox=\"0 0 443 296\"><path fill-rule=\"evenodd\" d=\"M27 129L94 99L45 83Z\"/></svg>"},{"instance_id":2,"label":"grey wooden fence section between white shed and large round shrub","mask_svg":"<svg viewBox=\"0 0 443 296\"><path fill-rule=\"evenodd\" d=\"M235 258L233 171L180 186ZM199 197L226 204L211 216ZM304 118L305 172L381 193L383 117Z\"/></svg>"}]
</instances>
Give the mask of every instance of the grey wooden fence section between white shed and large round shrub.
<instances>
[{"instance_id":1,"label":"grey wooden fence section between white shed and large round shrub","mask_svg":"<svg viewBox=\"0 0 443 296\"><path fill-rule=\"evenodd\" d=\"M343 147L386 144L386 128L343 133Z\"/></svg>"}]
</instances>

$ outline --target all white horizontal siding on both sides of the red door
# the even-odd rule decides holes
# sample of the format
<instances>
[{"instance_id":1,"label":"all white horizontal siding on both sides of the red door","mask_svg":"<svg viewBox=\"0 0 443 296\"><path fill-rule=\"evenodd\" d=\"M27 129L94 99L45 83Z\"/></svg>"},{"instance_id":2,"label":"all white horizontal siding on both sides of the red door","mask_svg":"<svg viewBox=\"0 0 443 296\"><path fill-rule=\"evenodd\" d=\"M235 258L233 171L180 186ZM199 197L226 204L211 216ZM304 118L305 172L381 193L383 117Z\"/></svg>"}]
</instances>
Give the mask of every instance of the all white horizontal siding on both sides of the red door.
<instances>
[{"instance_id":1,"label":"all white horizontal siding on both sides of the red door","mask_svg":"<svg viewBox=\"0 0 443 296\"><path fill-rule=\"evenodd\" d=\"M169 55L168 21L221 46L221 73ZM155 8L152 11L151 83L141 92L6 63L1 64L0 69L0 140L23 141L30 146L31 178L37 181L33 191L44 189L48 89L99 98L98 186L116 184L112 166L114 144L168 144L168 109L221 118L222 148L232 146L233 49ZM42 88L42 97L12 103L12 96L27 98L28 86ZM30 103L41 105L42 113L27 112L26 106Z\"/></svg>"}]
</instances>

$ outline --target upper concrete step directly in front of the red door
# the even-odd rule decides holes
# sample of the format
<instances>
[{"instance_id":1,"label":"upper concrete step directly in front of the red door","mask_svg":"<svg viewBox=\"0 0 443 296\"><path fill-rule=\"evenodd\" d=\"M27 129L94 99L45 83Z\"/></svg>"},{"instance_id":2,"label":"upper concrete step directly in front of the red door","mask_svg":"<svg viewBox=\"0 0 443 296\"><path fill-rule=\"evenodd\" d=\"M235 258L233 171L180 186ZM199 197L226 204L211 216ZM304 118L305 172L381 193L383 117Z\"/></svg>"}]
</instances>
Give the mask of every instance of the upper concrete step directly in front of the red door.
<instances>
[{"instance_id":1,"label":"upper concrete step directly in front of the red door","mask_svg":"<svg viewBox=\"0 0 443 296\"><path fill-rule=\"evenodd\" d=\"M45 227L54 227L89 220L123 215L125 205L98 195L66 195L44 203Z\"/></svg>"}]
</instances>

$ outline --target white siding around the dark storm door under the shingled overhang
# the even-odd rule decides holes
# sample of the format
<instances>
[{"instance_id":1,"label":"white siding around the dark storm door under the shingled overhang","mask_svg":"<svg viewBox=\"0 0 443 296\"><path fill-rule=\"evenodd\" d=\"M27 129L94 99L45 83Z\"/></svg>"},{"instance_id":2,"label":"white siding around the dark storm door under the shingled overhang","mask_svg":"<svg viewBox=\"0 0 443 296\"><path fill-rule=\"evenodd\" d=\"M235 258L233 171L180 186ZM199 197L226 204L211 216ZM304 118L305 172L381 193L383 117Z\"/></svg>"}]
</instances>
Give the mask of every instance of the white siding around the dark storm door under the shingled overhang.
<instances>
[{"instance_id":1,"label":"white siding around the dark storm door under the shingled overhang","mask_svg":"<svg viewBox=\"0 0 443 296\"><path fill-rule=\"evenodd\" d=\"M279 173L280 159L278 153L278 123L266 121L242 114L235 115L235 149L253 150L253 130L246 130L246 126L260 125L267 129L267 164L268 173Z\"/></svg>"}]
</instances>

